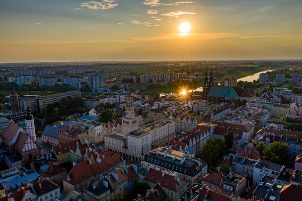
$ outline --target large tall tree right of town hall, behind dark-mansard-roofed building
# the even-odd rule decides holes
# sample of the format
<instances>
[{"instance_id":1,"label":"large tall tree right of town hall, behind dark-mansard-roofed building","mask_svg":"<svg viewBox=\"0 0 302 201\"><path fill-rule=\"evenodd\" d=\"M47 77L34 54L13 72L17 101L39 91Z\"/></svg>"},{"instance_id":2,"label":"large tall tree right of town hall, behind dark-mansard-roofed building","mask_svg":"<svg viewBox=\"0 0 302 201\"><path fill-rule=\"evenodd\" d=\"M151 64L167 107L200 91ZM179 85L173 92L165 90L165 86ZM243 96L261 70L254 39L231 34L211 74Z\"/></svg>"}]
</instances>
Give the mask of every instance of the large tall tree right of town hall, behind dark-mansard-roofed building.
<instances>
[{"instance_id":1,"label":"large tall tree right of town hall, behind dark-mansard-roofed building","mask_svg":"<svg viewBox=\"0 0 302 201\"><path fill-rule=\"evenodd\" d=\"M209 169L214 169L227 153L225 140L218 137L210 138L202 146L201 151Z\"/></svg>"}]
</instances>

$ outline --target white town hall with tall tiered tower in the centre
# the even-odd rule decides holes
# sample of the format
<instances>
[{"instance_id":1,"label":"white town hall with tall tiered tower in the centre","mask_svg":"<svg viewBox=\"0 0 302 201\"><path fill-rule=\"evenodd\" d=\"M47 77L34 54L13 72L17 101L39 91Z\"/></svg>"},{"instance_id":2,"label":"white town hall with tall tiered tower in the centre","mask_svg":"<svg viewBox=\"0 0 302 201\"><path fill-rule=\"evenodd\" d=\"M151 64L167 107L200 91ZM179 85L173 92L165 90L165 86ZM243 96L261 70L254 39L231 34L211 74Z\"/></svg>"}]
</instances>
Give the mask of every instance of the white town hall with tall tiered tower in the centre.
<instances>
[{"instance_id":1,"label":"white town hall with tall tiered tower in the centre","mask_svg":"<svg viewBox=\"0 0 302 201\"><path fill-rule=\"evenodd\" d=\"M104 136L105 148L122 153L125 158L138 161L142 151L148 152L163 145L175 135L175 122L160 120L138 128L138 117L134 115L133 97L126 97L126 116L122 118L122 133Z\"/></svg>"}]
</instances>

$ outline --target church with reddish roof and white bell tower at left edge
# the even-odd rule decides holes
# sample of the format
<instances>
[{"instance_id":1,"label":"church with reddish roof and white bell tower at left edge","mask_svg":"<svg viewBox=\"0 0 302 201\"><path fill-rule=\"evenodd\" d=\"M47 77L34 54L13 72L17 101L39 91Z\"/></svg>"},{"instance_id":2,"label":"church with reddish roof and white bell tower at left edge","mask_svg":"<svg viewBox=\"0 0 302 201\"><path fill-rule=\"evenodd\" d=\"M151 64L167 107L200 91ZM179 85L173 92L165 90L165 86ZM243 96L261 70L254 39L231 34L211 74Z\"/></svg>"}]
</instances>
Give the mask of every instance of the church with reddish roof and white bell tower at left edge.
<instances>
[{"instance_id":1,"label":"church with reddish roof and white bell tower at left edge","mask_svg":"<svg viewBox=\"0 0 302 201\"><path fill-rule=\"evenodd\" d=\"M11 120L1 136L0 143L7 151L5 162L10 168L20 165L28 167L29 163L40 155L41 150L38 148L36 139L34 117L28 107L25 128L26 130Z\"/></svg>"}]
</instances>

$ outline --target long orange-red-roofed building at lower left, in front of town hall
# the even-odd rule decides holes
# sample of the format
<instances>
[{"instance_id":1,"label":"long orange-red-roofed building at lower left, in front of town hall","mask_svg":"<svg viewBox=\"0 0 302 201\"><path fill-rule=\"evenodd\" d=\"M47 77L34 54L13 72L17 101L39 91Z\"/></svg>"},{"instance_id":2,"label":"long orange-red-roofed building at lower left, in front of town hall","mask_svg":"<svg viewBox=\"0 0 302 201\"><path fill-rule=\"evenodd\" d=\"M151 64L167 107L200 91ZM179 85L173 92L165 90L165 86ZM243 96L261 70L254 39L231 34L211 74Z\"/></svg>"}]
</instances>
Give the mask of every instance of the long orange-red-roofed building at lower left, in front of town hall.
<instances>
[{"instance_id":1,"label":"long orange-red-roofed building at lower left, in front of town hall","mask_svg":"<svg viewBox=\"0 0 302 201\"><path fill-rule=\"evenodd\" d=\"M63 189L65 193L72 190L85 192L92 178L100 178L105 176L107 172L112 172L115 168L124 168L125 161L117 153L102 158L97 162L85 160L75 164L69 171L67 176L63 178ZM83 170L85 170L83 172Z\"/></svg>"}]
</instances>

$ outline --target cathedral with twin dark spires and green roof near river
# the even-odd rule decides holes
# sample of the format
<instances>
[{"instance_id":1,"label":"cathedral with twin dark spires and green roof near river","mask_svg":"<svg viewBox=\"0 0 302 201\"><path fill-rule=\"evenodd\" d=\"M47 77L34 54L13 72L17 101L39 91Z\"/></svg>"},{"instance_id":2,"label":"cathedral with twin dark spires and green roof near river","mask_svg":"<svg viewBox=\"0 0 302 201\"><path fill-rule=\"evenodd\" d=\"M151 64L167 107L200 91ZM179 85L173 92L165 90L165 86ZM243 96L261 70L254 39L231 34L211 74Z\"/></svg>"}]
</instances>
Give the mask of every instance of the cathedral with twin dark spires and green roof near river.
<instances>
[{"instance_id":1,"label":"cathedral with twin dark spires and green roof near river","mask_svg":"<svg viewBox=\"0 0 302 201\"><path fill-rule=\"evenodd\" d=\"M212 69L209 79L207 75L207 69L205 70L203 99L212 103L224 102L233 105L239 104L239 96L233 87L214 85Z\"/></svg>"}]
</instances>

